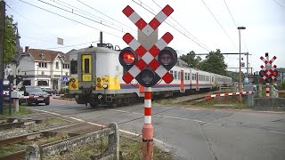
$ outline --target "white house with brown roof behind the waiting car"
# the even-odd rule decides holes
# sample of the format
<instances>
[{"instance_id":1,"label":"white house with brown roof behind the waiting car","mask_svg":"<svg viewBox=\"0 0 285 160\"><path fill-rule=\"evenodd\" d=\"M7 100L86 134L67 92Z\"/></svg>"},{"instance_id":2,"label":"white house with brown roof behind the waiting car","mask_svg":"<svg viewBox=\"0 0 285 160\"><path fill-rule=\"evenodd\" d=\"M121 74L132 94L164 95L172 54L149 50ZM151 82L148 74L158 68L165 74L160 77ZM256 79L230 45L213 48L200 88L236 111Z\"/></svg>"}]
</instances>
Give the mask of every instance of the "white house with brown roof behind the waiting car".
<instances>
[{"instance_id":1,"label":"white house with brown roof behind the waiting car","mask_svg":"<svg viewBox=\"0 0 285 160\"><path fill-rule=\"evenodd\" d=\"M60 90L65 83L62 76L69 76L69 55L63 52L29 49L18 58L18 75L23 76L22 85L38 85L42 88Z\"/></svg>"}]
</instances>

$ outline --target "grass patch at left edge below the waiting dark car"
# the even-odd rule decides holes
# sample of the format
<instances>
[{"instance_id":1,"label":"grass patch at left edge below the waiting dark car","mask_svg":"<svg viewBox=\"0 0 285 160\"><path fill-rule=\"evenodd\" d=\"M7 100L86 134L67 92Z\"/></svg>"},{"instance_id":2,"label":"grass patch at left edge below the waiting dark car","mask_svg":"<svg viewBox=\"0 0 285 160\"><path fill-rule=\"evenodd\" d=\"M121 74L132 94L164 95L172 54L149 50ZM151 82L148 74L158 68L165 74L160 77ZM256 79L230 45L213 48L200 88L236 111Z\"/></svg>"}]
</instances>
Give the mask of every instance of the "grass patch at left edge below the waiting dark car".
<instances>
[{"instance_id":1,"label":"grass patch at left edge below the waiting dark car","mask_svg":"<svg viewBox=\"0 0 285 160\"><path fill-rule=\"evenodd\" d=\"M11 115L9 115L9 105L4 104L4 114L0 115L0 118L6 118L11 116L25 116L34 113L31 109L19 106L19 112L15 112L13 105L11 105Z\"/></svg>"}]
</instances>

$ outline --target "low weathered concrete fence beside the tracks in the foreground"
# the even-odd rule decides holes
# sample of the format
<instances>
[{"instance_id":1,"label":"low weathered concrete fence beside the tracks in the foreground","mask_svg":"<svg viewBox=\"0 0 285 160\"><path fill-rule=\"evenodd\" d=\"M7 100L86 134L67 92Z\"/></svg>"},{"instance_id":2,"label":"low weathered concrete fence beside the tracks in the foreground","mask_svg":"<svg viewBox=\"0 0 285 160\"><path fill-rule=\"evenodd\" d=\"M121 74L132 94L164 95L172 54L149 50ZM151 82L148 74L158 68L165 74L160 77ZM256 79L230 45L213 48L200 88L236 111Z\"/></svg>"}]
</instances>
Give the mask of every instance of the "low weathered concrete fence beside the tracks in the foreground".
<instances>
[{"instance_id":1,"label":"low weathered concrete fence beside the tracks in the foreground","mask_svg":"<svg viewBox=\"0 0 285 160\"><path fill-rule=\"evenodd\" d=\"M44 156L52 156L55 153L60 153L62 151L69 150L70 148L74 148L89 142L93 142L94 140L99 140L102 137L109 136L108 140L108 148L106 151L105 157L101 160L118 160L119 159L119 133L118 133L118 125L110 124L108 128L104 128L100 131L89 132L84 135L79 135L76 137L69 138L67 140L60 140L49 144L44 145L30 145L26 149L26 159L27 160L40 160L43 159Z\"/></svg>"}]
</instances>

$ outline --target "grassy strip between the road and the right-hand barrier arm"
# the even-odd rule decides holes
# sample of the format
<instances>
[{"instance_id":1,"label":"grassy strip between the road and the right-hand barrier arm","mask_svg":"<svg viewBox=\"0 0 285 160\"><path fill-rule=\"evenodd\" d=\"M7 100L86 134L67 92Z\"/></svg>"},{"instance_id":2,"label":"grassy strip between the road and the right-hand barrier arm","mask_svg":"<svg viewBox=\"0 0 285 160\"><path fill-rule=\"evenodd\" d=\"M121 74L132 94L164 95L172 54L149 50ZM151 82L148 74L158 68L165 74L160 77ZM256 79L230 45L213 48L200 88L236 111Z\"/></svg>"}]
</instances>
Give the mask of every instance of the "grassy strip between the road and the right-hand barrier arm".
<instances>
[{"instance_id":1,"label":"grassy strip between the road and the right-hand barrier arm","mask_svg":"<svg viewBox=\"0 0 285 160\"><path fill-rule=\"evenodd\" d=\"M245 101L240 102L239 96L217 97L214 99L203 100L199 102L182 102L180 105L186 107L199 107L199 108L233 108L244 109L248 108Z\"/></svg>"}]
</instances>

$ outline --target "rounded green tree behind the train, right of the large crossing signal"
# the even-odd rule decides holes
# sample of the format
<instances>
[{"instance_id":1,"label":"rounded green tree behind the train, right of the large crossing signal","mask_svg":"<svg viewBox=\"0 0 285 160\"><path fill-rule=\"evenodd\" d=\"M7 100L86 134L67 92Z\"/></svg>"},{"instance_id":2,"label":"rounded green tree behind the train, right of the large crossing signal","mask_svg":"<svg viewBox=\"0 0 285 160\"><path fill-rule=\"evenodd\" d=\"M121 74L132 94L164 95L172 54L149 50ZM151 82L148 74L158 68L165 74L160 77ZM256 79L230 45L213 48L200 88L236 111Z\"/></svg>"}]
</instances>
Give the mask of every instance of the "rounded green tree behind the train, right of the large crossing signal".
<instances>
[{"instance_id":1,"label":"rounded green tree behind the train, right of the large crossing signal","mask_svg":"<svg viewBox=\"0 0 285 160\"><path fill-rule=\"evenodd\" d=\"M208 72L226 76L227 65L224 63L224 55L219 49L216 52L209 52L206 60L199 63L199 68Z\"/></svg>"}]
</instances>

